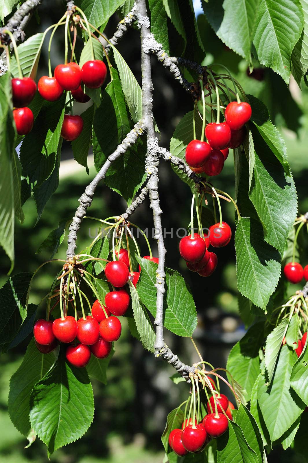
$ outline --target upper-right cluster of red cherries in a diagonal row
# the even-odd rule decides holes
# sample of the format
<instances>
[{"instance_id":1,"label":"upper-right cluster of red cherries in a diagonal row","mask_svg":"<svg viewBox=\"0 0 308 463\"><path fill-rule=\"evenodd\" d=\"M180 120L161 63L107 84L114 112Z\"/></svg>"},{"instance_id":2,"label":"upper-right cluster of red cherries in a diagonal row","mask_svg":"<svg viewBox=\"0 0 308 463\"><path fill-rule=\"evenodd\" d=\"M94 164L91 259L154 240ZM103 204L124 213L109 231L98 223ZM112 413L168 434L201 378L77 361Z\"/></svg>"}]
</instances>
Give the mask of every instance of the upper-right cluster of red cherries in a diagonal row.
<instances>
[{"instance_id":1,"label":"upper-right cluster of red cherries in a diagonal row","mask_svg":"<svg viewBox=\"0 0 308 463\"><path fill-rule=\"evenodd\" d=\"M221 173L229 148L237 148L246 136L245 124L251 118L249 103L231 101L225 110L225 122L211 122L205 127L207 142L192 140L186 147L185 160L197 174Z\"/></svg>"}]
</instances>

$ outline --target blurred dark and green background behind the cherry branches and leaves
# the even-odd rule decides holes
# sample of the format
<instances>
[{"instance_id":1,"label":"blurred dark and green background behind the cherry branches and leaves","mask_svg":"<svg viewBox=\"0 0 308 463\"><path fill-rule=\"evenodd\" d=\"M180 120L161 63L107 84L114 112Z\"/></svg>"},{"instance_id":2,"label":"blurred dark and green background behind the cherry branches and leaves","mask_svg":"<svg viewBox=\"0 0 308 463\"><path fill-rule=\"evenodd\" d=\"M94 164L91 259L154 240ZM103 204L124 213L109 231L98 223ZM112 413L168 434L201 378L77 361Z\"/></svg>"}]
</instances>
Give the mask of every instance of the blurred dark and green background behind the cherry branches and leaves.
<instances>
[{"instance_id":1,"label":"blurred dark and green background behind the cherry branches and leaves","mask_svg":"<svg viewBox=\"0 0 308 463\"><path fill-rule=\"evenodd\" d=\"M53 6L63 6L54 1ZM60 9L50 9L49 2L43 2L39 9L40 24L31 20L27 30L28 36L43 31L48 25L58 20ZM105 30L111 36L116 29L118 18L111 18ZM231 70L247 94L254 94L268 106L272 121L277 124L288 148L288 155L293 171L299 197L299 211L308 210L307 175L308 175L308 89L302 84L302 92L294 80L290 90L282 79L270 69L254 69L247 74L247 63L234 52L225 47L211 31L203 15L198 17L207 56L203 64L223 63ZM63 59L63 36L55 36L52 50L52 66ZM138 32L129 31L127 38L119 44L119 50L140 80L140 52L138 50ZM47 42L41 57L38 77L46 72ZM175 126L181 117L192 109L192 101L179 84L153 58L154 80L154 115L160 127L160 143L167 148ZM80 106L76 110L81 111ZM89 176L85 170L74 162L70 145L63 144L63 161L61 165L60 186L49 200L42 218L36 224L36 207L33 199L24 206L25 223L16 223L16 265L14 274L20 271L33 272L49 254L36 254L39 244L56 228L65 217L73 217L78 206L78 198L86 184L95 175L92 164ZM232 150L222 171L215 179L215 186L234 195L234 169ZM169 165L160 166L160 198L163 209L163 226L166 231L171 227L188 225L191 193L188 186L181 183ZM99 186L93 200L89 215L105 218L109 215L123 213L125 201L116 193ZM234 230L234 209L223 204L223 217ZM134 223L141 228L152 226L151 211L148 201L134 215ZM95 236L96 223L85 220L78 238L78 249L83 249ZM166 265L179 269L192 288L197 312L198 327L195 339L204 358L215 366L225 366L228 352L232 345L244 334L245 327L238 317L237 289L235 275L235 253L231 244L217 250L218 267L209 279L201 279L186 270L185 263L179 257L179 239L170 235L166 238ZM153 250L156 252L154 242ZM140 239L144 254L148 254L145 242ZM65 257L66 239L56 257ZM9 262L1 251L0 284L6 281ZM302 264L308 263L304 256ZM38 303L46 294L50 283L59 270L57 263L46 265L37 274L31 293L30 302ZM292 288L294 290L294 287ZM43 315L43 313L42 313ZM22 361L23 353L29 339L0 358L0 462L6 463L43 463L47 461L45 446L37 440L29 449L24 449L26 439L12 425L7 413L7 395L9 378ZM179 354L186 363L195 361L193 346L189 339L179 339L166 333L166 343ZM166 415L188 393L186 384L174 385L169 376L173 370L166 364L148 354L133 339L123 321L123 335L116 345L116 354L108 370L108 385L94 382L95 417L86 435L79 441L57 450L51 457L58 463L159 463L163 458L160 435L164 429ZM269 461L297 461L292 450L283 454L274 451Z\"/></svg>"}]
</instances>

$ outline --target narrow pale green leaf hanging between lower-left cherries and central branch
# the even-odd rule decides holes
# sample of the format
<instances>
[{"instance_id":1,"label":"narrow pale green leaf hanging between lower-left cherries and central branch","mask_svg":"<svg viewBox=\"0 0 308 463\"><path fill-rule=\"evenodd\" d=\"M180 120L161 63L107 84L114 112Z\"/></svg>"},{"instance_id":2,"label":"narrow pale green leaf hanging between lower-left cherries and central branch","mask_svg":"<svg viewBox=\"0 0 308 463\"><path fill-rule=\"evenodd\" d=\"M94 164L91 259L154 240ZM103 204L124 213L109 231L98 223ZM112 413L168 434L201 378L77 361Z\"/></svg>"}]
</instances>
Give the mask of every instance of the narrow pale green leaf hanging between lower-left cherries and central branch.
<instances>
[{"instance_id":1,"label":"narrow pale green leaf hanging between lower-left cherries and central branch","mask_svg":"<svg viewBox=\"0 0 308 463\"><path fill-rule=\"evenodd\" d=\"M145 307L139 300L135 286L129 280L129 289L133 306L134 319L136 322L140 340L145 349L154 352L155 332Z\"/></svg>"}]
</instances>

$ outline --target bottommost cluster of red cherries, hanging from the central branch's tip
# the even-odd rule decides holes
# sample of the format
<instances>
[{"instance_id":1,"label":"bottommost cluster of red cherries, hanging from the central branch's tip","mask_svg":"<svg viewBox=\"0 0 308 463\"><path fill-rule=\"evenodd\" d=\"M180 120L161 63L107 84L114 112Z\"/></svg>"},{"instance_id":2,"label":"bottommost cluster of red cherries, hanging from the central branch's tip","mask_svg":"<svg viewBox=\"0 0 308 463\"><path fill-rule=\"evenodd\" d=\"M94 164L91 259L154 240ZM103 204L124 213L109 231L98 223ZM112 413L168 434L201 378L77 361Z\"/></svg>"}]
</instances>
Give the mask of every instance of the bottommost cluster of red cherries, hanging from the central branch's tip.
<instances>
[{"instance_id":1,"label":"bottommost cluster of red cherries, hanging from the central branch's tip","mask_svg":"<svg viewBox=\"0 0 308 463\"><path fill-rule=\"evenodd\" d=\"M214 401L216 400L217 412ZM208 414L203 418L201 423L197 419L186 419L182 424L182 429L173 429L168 438L171 449L179 457L184 457L188 452L200 453L209 443L210 439L216 439L222 436L228 429L228 418L232 418L234 405L224 394L210 397L207 403ZM227 416L226 416L227 415Z\"/></svg>"}]
</instances>

